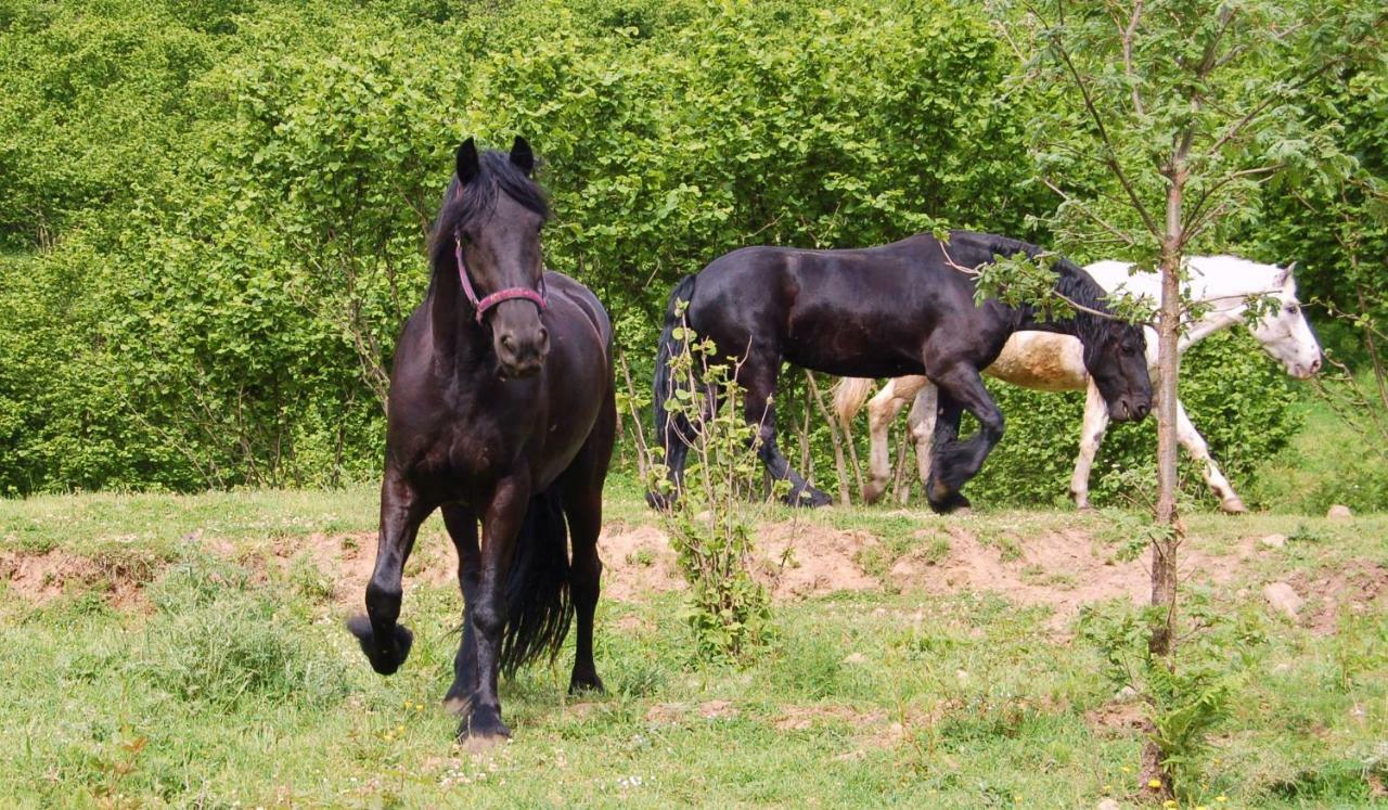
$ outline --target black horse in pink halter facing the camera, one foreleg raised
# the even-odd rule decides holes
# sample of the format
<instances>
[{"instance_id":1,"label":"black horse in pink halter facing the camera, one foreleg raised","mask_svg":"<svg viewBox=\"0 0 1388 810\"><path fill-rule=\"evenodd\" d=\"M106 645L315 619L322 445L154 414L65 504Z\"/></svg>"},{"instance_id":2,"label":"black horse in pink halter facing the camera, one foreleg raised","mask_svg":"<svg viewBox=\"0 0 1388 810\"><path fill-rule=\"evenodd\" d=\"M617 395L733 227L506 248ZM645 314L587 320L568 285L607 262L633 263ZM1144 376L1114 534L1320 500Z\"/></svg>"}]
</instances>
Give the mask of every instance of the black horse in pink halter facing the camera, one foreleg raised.
<instances>
[{"instance_id":1,"label":"black horse in pink halter facing the camera, one foreleg raised","mask_svg":"<svg viewBox=\"0 0 1388 810\"><path fill-rule=\"evenodd\" d=\"M446 703L462 716L458 735L479 739L511 734L498 670L554 656L575 613L569 688L602 688L593 610L616 429L612 326L591 291L544 270L547 205L533 168L522 139L509 155L479 155L472 139L458 148L429 293L396 350L368 616L348 623L378 673L404 663L412 635L396 624L400 576L421 522L441 508L465 602Z\"/></svg>"}]
</instances>

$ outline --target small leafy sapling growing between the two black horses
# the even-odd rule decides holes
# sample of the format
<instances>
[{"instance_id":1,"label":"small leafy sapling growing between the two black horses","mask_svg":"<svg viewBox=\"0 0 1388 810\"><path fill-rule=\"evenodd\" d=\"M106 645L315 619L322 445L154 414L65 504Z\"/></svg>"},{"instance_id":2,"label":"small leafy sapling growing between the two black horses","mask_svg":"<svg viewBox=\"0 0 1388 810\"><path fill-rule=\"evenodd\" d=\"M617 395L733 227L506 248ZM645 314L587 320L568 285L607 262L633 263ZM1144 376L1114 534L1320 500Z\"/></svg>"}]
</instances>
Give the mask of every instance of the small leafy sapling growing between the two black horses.
<instances>
[{"instance_id":1,"label":"small leafy sapling growing between the two black horses","mask_svg":"<svg viewBox=\"0 0 1388 810\"><path fill-rule=\"evenodd\" d=\"M683 308L680 302L680 315ZM719 362L713 343L698 340L688 326L676 327L675 338L683 348L669 361L666 408L670 420L688 424L690 451L683 490L662 522L690 584L687 616L700 653L744 662L772 632L769 595L751 573L752 530L788 485L763 485L758 426L743 419L737 363ZM651 487L669 494L658 454L645 467Z\"/></svg>"}]
</instances>

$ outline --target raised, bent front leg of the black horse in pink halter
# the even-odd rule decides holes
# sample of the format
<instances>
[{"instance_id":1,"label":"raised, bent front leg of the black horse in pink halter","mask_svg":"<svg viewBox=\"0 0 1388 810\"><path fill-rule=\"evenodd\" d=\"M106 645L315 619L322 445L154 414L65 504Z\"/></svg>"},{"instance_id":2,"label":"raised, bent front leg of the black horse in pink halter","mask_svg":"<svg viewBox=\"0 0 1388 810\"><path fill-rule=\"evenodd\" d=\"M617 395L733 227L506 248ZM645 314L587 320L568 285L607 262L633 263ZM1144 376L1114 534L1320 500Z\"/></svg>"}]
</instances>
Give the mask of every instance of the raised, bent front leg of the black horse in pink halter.
<instances>
[{"instance_id":1,"label":"raised, bent front leg of the black horse in pink halter","mask_svg":"<svg viewBox=\"0 0 1388 810\"><path fill-rule=\"evenodd\" d=\"M409 551L415 546L419 524L430 510L397 469L386 469L380 487L376 569L366 584L366 616L354 616L347 621L347 628L361 642L372 669L383 675L393 674L405 663L414 642L409 630L397 624L404 598L401 576Z\"/></svg>"}]
</instances>

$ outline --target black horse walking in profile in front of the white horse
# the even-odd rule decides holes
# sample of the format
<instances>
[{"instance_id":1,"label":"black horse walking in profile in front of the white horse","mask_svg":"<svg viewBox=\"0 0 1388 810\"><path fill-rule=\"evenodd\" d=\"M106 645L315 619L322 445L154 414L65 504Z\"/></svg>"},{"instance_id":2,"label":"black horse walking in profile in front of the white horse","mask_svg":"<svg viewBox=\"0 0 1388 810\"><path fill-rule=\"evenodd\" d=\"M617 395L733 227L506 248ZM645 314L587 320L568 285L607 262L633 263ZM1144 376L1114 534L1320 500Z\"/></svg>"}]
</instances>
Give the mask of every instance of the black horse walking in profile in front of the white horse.
<instances>
[{"instance_id":1,"label":"black horse walking in profile in front of the white horse","mask_svg":"<svg viewBox=\"0 0 1388 810\"><path fill-rule=\"evenodd\" d=\"M670 415L669 358L676 301L688 301L686 320L700 337L712 338L719 356L743 361L737 383L747 390L744 415L761 423L759 454L772 476L788 479L793 503L820 506L829 497L791 469L776 447L772 394L781 358L818 372L852 377L926 374L940 387L936 455L926 487L930 506L949 512L967 506L959 492L1002 438L1002 412L979 379L1019 330L1073 334L1084 343L1084 365L1115 422L1142 419L1151 409L1142 329L1084 312L1072 319L1042 319L1033 307L973 301L973 277L962 272L995 257L1041 248L984 233L954 232L948 243L929 234L866 250L791 250L750 247L715 259L686 276L670 294L665 331L655 361L655 431L665 448L670 481L683 483L688 423ZM1108 312L1103 290L1069 261L1055 264L1055 290L1083 308ZM705 391L705 408L713 394ZM960 412L979 420L977 436L959 438ZM651 492L652 506L666 497Z\"/></svg>"}]
</instances>

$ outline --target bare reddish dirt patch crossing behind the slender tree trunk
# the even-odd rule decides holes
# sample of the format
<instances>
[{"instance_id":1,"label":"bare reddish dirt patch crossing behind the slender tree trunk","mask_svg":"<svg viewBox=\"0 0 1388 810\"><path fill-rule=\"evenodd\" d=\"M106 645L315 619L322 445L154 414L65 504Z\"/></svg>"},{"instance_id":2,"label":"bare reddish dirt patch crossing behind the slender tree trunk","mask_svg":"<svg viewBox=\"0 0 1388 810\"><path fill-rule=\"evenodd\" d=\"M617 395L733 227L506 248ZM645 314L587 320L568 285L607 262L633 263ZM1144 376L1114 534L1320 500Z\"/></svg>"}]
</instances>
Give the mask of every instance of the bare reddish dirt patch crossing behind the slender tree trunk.
<instances>
[{"instance_id":1,"label":"bare reddish dirt patch crossing behind the slender tree trunk","mask_svg":"<svg viewBox=\"0 0 1388 810\"><path fill-rule=\"evenodd\" d=\"M1053 609L1052 630L1065 627L1083 605L1115 598L1141 603L1149 596L1149 555L1122 562L1112 549L1084 531L1060 530L1026 540L998 538L980 542L959 526L945 528L949 551L940 559L906 555L891 569L892 581L904 588L931 594L997 591L1012 602L1047 605ZM1187 548L1181 555L1181 577L1227 583L1237 559L1216 558Z\"/></svg>"}]
</instances>

